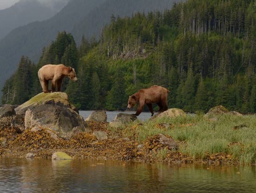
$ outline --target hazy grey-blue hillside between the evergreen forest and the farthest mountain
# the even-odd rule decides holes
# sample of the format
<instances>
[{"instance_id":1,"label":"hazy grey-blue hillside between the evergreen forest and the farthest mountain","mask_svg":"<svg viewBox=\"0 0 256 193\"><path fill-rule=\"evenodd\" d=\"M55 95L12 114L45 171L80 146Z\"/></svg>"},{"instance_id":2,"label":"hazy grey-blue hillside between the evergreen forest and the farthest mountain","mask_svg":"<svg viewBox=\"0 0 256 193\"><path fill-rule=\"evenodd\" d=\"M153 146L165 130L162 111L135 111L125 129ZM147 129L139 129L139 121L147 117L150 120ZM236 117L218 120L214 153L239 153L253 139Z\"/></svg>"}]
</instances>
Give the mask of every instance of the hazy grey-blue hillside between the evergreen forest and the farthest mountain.
<instances>
[{"instance_id":1,"label":"hazy grey-blue hillside between the evergreen forest and the farthest mountain","mask_svg":"<svg viewBox=\"0 0 256 193\"><path fill-rule=\"evenodd\" d=\"M164 10L174 0L70 0L67 6L49 20L34 22L16 28L0 40L0 87L15 71L20 57L27 55L39 60L42 48L47 46L60 31L74 33L79 44L84 34L98 35L102 27L110 22L111 15L132 15L137 11Z\"/></svg>"}]
</instances>

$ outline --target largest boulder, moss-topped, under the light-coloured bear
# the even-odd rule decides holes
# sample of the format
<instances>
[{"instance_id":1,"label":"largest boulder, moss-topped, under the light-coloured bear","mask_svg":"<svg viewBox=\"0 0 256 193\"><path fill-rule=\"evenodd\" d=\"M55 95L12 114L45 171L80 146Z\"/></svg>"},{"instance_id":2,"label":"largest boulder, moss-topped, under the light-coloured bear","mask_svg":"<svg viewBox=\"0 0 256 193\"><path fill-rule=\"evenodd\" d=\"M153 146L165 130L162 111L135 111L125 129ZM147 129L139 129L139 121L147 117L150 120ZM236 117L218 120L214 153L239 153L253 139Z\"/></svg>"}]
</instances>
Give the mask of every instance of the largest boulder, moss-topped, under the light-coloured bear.
<instances>
[{"instance_id":1,"label":"largest boulder, moss-topped, under the light-coloured bear","mask_svg":"<svg viewBox=\"0 0 256 193\"><path fill-rule=\"evenodd\" d=\"M68 133L74 127L87 130L87 124L83 118L73 109L68 102L67 94L40 93L18 106L15 111L18 114L25 114L25 128L41 126L50 128L59 133Z\"/></svg>"}]
</instances>

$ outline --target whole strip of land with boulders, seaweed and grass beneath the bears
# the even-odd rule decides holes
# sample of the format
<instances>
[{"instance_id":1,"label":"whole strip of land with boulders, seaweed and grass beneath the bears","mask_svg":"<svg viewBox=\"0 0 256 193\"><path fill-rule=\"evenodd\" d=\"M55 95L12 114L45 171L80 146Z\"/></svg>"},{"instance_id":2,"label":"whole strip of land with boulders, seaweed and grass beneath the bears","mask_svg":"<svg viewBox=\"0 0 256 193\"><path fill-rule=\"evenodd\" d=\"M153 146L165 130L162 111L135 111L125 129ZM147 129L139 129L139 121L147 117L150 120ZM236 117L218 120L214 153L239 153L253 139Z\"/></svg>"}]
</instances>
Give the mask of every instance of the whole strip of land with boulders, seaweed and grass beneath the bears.
<instances>
[{"instance_id":1,"label":"whole strip of land with boulders, seaweed and grass beneath the bears","mask_svg":"<svg viewBox=\"0 0 256 193\"><path fill-rule=\"evenodd\" d=\"M172 108L147 121L104 111L83 120L66 93L40 93L16 107L0 108L0 156L140 162L255 164L256 117L216 106L187 115ZM61 158L60 158L61 159Z\"/></svg>"}]
</instances>

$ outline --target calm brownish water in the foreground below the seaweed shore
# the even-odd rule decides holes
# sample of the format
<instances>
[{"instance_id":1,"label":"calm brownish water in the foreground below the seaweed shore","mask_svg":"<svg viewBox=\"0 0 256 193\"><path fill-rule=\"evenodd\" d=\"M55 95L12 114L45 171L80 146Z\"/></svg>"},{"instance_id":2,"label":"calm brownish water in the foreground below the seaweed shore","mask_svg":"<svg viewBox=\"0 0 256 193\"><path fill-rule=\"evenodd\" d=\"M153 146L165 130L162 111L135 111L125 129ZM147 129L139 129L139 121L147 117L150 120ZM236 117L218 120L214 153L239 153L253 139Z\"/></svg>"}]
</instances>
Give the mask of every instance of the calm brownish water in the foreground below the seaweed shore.
<instances>
[{"instance_id":1,"label":"calm brownish water in the foreground below the seaweed shore","mask_svg":"<svg viewBox=\"0 0 256 193\"><path fill-rule=\"evenodd\" d=\"M0 192L255 193L256 166L0 158Z\"/></svg>"}]
</instances>

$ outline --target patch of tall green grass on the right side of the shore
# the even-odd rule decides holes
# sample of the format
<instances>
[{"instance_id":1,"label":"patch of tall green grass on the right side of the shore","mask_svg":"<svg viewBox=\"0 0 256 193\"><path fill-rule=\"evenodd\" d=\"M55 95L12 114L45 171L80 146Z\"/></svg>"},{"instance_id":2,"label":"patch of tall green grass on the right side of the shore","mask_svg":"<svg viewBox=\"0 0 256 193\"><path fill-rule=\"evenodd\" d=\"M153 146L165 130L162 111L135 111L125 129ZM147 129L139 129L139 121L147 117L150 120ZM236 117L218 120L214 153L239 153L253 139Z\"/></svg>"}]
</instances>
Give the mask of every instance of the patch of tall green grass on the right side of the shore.
<instances>
[{"instance_id":1,"label":"patch of tall green grass on the right side of the shore","mask_svg":"<svg viewBox=\"0 0 256 193\"><path fill-rule=\"evenodd\" d=\"M212 121L201 113L197 116L156 118L142 125L138 123L123 127L120 132L139 143L148 136L162 133L179 143L181 153L197 159L203 160L209 154L227 153L240 163L256 164L256 116L239 117L227 113ZM161 127L162 123L170 123L171 128ZM242 124L248 127L234 129L234 126ZM158 154L162 157L164 152Z\"/></svg>"}]
</instances>

